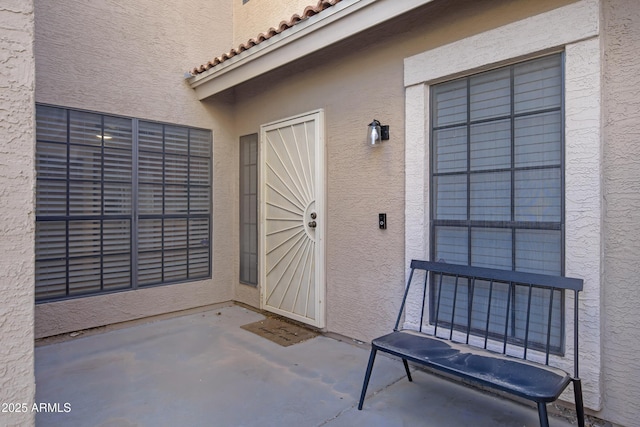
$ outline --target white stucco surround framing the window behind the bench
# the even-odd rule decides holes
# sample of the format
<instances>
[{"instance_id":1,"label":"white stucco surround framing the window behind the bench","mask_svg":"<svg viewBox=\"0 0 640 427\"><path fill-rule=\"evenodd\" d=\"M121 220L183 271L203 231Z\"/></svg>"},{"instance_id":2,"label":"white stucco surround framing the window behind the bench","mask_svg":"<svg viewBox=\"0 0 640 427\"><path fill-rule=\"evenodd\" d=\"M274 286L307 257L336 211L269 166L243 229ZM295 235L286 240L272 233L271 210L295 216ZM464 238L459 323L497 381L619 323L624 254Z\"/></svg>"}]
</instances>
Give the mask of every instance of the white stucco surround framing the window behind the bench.
<instances>
[{"instance_id":1,"label":"white stucco surround framing the window behind the bench","mask_svg":"<svg viewBox=\"0 0 640 427\"><path fill-rule=\"evenodd\" d=\"M565 53L565 274L585 281L580 318L581 376L585 404L602 406L601 324L601 81L600 4L582 0L540 15L461 39L405 59L405 265L428 259L429 90L453 78ZM408 274L408 271L407 271ZM568 296L567 298L570 298ZM573 361L573 302L565 301L565 355ZM415 323L407 307L407 323Z\"/></svg>"}]
</instances>

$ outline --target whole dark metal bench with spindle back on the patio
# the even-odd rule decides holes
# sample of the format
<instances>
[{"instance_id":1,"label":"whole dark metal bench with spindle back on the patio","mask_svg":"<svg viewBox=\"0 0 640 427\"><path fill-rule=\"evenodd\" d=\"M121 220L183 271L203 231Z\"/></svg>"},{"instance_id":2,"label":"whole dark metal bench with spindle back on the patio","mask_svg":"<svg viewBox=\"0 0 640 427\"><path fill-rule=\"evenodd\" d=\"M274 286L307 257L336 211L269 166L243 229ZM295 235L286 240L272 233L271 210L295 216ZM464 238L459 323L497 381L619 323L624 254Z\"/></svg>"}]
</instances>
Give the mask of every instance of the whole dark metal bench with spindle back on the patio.
<instances>
[{"instance_id":1,"label":"whole dark metal bench with spindle back on the patio","mask_svg":"<svg viewBox=\"0 0 640 427\"><path fill-rule=\"evenodd\" d=\"M371 342L358 409L382 351L402 359L409 381L412 362L531 400L542 427L549 425L546 404L573 383L578 425L584 427L578 376L582 285L575 278L413 260L393 332ZM573 376L549 365L564 353L564 327L557 325L564 319L565 293L573 293L574 302ZM415 330L400 329L403 315Z\"/></svg>"}]
</instances>

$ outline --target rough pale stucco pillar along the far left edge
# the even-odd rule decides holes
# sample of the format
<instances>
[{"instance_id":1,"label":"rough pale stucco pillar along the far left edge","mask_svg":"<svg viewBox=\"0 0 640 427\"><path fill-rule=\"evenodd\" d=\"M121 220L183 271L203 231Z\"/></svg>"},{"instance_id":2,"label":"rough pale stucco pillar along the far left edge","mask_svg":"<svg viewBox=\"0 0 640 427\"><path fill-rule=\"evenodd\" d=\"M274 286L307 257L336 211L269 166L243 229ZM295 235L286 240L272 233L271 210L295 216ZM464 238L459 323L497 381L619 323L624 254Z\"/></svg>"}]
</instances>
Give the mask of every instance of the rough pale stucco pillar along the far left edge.
<instances>
[{"instance_id":1,"label":"rough pale stucco pillar along the far left edge","mask_svg":"<svg viewBox=\"0 0 640 427\"><path fill-rule=\"evenodd\" d=\"M0 412L2 426L35 422L33 22L31 0L0 6L0 404L28 409Z\"/></svg>"}]
</instances>

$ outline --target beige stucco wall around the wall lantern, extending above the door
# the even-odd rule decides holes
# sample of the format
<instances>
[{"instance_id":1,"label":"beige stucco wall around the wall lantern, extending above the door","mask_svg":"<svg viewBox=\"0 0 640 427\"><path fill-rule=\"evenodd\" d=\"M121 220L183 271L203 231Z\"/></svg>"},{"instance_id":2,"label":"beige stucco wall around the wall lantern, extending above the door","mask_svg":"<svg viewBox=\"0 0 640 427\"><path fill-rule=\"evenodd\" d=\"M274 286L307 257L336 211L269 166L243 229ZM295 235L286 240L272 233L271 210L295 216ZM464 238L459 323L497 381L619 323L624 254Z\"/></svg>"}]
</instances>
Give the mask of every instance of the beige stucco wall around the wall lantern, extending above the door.
<instances>
[{"instance_id":1,"label":"beige stucco wall around the wall lantern, extending above the door","mask_svg":"<svg viewBox=\"0 0 640 427\"><path fill-rule=\"evenodd\" d=\"M430 5L236 88L238 136L324 109L327 330L371 340L393 327L400 305L406 269L405 148L413 143L405 135L405 118L424 122L405 116L404 58L565 3ZM379 37L382 33L386 36ZM390 126L390 140L378 147L365 141L374 118ZM378 229L378 213L387 214L386 230ZM428 241L426 234L413 237ZM236 298L258 306L259 289L238 285Z\"/></svg>"}]
</instances>

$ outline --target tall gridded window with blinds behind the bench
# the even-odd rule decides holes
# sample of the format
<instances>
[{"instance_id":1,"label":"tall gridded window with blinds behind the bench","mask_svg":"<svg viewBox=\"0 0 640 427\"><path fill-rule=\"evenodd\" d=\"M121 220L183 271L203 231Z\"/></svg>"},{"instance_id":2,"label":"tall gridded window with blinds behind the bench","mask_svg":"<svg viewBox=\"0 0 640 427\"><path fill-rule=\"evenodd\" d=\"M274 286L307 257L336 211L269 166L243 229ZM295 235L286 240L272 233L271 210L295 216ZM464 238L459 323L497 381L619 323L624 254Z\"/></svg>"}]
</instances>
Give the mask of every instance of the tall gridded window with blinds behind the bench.
<instances>
[{"instance_id":1,"label":"tall gridded window with blinds behind the bench","mask_svg":"<svg viewBox=\"0 0 640 427\"><path fill-rule=\"evenodd\" d=\"M432 259L563 273L562 61L556 54L431 87ZM490 293L490 284L482 283L474 284L473 295L471 289L460 286L459 295L441 298L498 298L505 307L509 300L514 308L509 324L496 320L489 329L506 328L514 342L523 339L518 307L526 305L528 295L509 286ZM431 295L439 297L435 289ZM532 298L541 314L532 316L538 322L533 330L550 324L552 346L561 351L560 292L544 301L536 300L535 292ZM542 313L550 305L549 321ZM446 307L441 314L442 320L452 318ZM454 323L466 325L467 315L456 315ZM479 321L478 332L484 334L483 328Z\"/></svg>"}]
</instances>

